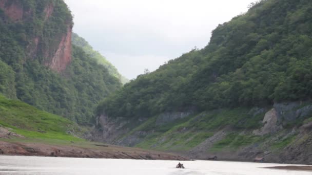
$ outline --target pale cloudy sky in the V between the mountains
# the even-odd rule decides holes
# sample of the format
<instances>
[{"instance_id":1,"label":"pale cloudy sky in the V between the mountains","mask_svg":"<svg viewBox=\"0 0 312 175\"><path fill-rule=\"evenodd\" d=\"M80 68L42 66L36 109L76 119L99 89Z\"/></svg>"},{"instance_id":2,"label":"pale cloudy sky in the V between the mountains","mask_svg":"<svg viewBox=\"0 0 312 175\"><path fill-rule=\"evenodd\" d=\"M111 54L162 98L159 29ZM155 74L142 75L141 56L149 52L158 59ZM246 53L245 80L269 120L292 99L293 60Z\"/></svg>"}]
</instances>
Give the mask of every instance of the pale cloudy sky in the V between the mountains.
<instances>
[{"instance_id":1,"label":"pale cloudy sky in the V between the mountains","mask_svg":"<svg viewBox=\"0 0 312 175\"><path fill-rule=\"evenodd\" d=\"M255 0L65 0L73 31L128 79L195 47Z\"/></svg>"}]
</instances>

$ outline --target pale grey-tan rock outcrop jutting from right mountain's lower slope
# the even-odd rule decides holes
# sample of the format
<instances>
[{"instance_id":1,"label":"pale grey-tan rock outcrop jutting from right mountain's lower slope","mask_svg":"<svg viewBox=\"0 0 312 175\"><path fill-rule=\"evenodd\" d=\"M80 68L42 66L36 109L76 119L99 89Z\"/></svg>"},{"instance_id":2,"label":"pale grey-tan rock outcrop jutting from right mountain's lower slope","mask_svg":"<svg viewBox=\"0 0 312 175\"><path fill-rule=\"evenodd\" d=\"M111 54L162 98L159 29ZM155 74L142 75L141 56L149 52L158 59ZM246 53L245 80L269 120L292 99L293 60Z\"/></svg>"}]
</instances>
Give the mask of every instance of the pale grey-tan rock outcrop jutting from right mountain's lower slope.
<instances>
[{"instance_id":1,"label":"pale grey-tan rock outcrop jutting from right mountain's lower slope","mask_svg":"<svg viewBox=\"0 0 312 175\"><path fill-rule=\"evenodd\" d=\"M278 130L282 129L282 126L278 126L278 115L275 108L265 114L262 123L264 126L258 130L254 130L254 135L263 136L269 133L276 133Z\"/></svg>"}]
</instances>

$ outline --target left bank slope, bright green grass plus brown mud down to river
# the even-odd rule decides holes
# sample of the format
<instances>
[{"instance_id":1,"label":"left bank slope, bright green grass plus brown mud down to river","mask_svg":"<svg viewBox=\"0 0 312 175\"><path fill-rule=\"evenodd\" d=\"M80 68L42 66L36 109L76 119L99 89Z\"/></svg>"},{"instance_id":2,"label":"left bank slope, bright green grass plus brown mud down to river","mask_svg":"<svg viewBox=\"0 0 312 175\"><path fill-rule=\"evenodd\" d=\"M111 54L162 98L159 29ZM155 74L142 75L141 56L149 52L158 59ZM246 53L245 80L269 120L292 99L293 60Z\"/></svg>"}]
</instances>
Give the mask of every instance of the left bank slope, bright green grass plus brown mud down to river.
<instances>
[{"instance_id":1,"label":"left bank slope, bright green grass plus brown mud down to river","mask_svg":"<svg viewBox=\"0 0 312 175\"><path fill-rule=\"evenodd\" d=\"M0 155L185 160L159 151L89 142L76 123L0 95Z\"/></svg>"}]
</instances>

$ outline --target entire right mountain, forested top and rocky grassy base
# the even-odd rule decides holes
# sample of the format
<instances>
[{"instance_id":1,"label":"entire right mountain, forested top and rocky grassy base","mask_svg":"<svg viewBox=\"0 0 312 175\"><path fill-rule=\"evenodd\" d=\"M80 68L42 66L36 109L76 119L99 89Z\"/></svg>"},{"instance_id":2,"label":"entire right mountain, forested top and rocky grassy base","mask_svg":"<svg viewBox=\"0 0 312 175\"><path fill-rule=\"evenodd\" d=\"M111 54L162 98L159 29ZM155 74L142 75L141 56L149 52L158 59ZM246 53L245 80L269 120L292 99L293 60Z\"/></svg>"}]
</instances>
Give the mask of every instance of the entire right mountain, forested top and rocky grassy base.
<instances>
[{"instance_id":1,"label":"entire right mountain, forested top and rocky grassy base","mask_svg":"<svg viewBox=\"0 0 312 175\"><path fill-rule=\"evenodd\" d=\"M312 2L267 0L97 107L94 137L194 159L311 163Z\"/></svg>"}]
</instances>

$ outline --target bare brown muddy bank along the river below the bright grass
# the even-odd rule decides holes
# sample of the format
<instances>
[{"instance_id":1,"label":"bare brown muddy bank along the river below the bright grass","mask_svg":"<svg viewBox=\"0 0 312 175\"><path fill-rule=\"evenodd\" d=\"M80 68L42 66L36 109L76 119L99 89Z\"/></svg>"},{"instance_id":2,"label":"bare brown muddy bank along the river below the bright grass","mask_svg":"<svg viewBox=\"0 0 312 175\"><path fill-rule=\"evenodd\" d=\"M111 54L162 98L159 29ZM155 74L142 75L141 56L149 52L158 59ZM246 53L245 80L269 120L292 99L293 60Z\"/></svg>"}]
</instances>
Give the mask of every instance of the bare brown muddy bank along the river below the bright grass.
<instances>
[{"instance_id":1,"label":"bare brown muddy bank along the river below the bright grass","mask_svg":"<svg viewBox=\"0 0 312 175\"><path fill-rule=\"evenodd\" d=\"M0 154L8 156L46 156L71 158L188 160L184 157L158 151L92 144L86 148L78 145L49 145L43 143L10 143L0 141Z\"/></svg>"}]
</instances>

